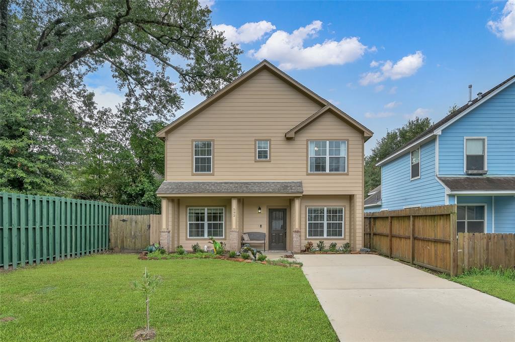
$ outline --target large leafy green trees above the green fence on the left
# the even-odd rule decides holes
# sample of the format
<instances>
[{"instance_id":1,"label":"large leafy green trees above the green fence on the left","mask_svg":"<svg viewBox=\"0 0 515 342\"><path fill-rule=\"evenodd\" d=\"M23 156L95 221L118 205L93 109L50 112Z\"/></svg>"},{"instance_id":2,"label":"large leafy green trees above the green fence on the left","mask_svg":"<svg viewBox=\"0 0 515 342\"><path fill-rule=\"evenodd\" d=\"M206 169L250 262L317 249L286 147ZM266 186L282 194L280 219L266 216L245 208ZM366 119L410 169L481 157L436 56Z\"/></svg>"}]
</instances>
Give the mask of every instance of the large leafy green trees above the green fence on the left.
<instances>
[{"instance_id":1,"label":"large leafy green trees above the green fence on the left","mask_svg":"<svg viewBox=\"0 0 515 342\"><path fill-rule=\"evenodd\" d=\"M0 191L160 210L164 143L179 92L211 96L241 73L196 0L2 1ZM125 99L99 107L84 78ZM99 85L102 86L102 85Z\"/></svg>"}]
</instances>

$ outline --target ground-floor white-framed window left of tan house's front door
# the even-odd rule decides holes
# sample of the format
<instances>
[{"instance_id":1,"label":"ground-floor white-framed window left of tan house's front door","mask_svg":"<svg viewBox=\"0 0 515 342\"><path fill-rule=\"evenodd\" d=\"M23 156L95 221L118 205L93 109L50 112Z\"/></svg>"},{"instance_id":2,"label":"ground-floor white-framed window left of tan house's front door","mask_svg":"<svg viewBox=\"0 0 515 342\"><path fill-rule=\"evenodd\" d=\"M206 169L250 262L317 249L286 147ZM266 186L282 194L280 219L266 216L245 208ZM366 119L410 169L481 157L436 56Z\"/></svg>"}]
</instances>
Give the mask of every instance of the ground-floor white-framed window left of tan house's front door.
<instances>
[{"instance_id":1,"label":"ground-floor white-framed window left of tan house's front door","mask_svg":"<svg viewBox=\"0 0 515 342\"><path fill-rule=\"evenodd\" d=\"M188 208L188 238L224 238L225 208Z\"/></svg>"}]
</instances>

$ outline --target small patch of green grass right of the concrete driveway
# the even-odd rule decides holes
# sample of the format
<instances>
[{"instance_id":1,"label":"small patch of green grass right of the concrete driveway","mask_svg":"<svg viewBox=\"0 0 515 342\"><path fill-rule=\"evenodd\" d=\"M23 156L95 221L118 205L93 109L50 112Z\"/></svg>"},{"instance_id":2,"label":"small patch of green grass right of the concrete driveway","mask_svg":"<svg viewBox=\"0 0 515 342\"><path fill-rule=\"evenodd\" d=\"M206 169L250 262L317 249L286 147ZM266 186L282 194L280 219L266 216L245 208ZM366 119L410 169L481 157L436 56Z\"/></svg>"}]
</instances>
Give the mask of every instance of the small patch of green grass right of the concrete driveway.
<instances>
[{"instance_id":1,"label":"small patch of green grass right of the concrete driveway","mask_svg":"<svg viewBox=\"0 0 515 342\"><path fill-rule=\"evenodd\" d=\"M457 283L515 304L515 269L471 268L456 277L443 276Z\"/></svg>"}]
</instances>

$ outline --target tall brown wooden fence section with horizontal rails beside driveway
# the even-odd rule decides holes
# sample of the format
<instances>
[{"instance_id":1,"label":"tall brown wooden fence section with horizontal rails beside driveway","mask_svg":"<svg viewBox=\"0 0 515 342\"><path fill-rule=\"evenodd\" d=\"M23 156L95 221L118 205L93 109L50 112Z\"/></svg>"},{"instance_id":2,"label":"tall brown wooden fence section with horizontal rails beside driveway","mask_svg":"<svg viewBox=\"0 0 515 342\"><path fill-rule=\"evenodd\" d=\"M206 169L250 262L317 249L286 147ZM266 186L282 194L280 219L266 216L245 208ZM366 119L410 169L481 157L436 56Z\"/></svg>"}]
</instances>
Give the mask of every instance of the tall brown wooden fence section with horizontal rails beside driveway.
<instances>
[{"instance_id":1,"label":"tall brown wooden fence section with horizontal rails beside driveway","mask_svg":"<svg viewBox=\"0 0 515 342\"><path fill-rule=\"evenodd\" d=\"M439 272L456 273L456 205L366 212L370 249Z\"/></svg>"}]
</instances>

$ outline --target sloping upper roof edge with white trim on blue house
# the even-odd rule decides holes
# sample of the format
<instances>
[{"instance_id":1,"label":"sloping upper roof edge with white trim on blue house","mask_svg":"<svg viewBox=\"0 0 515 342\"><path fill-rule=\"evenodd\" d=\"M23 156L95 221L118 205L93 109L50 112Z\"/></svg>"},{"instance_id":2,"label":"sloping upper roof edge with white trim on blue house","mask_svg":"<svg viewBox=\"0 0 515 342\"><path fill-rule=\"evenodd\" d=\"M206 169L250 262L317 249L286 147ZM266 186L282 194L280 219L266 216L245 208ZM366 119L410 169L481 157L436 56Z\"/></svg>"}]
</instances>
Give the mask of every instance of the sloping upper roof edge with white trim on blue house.
<instances>
[{"instance_id":1,"label":"sloping upper roof edge with white trim on blue house","mask_svg":"<svg viewBox=\"0 0 515 342\"><path fill-rule=\"evenodd\" d=\"M440 134L441 130L443 130L445 127L452 124L454 121L458 120L462 116L466 115L467 113L469 113L470 111L475 109L478 105L480 105L483 102L485 102L486 100L490 99L495 94L499 93L500 91L502 91L504 88L506 88L513 82L515 82L515 75L509 77L508 79L504 80L503 82L501 82L501 83L497 84L496 86L494 86L493 88L491 88L489 91L483 93L483 95L480 98L476 97L472 101L467 102L467 104L459 107L457 110L455 110L451 114L445 116L443 119L441 119L437 123L433 124L430 128L428 128L427 130L425 130L424 132L422 132L415 138L411 139L410 141L406 142L401 148L393 151L386 158L379 161L379 163L377 163L376 166L381 166L381 165L387 163L387 161L397 158L398 156L403 154L403 152L406 152L409 148L419 145L427 140L432 139L434 135Z\"/></svg>"}]
</instances>

